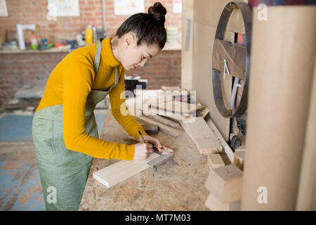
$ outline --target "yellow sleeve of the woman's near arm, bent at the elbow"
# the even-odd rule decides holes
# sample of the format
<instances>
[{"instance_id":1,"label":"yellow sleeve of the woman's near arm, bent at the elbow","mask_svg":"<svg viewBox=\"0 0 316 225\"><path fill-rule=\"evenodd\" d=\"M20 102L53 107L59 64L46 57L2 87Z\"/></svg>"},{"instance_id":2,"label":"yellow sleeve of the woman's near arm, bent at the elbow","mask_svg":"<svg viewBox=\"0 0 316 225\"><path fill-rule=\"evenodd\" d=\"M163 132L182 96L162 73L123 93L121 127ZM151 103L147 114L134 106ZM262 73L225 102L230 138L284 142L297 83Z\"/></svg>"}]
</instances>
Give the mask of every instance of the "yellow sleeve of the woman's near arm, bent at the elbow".
<instances>
[{"instance_id":1,"label":"yellow sleeve of the woman's near arm, bent at the elbow","mask_svg":"<svg viewBox=\"0 0 316 225\"><path fill-rule=\"evenodd\" d=\"M66 148L95 158L133 160L133 145L110 143L86 133L86 98L94 78L93 67L84 60L72 60L63 72L62 117Z\"/></svg>"}]
</instances>

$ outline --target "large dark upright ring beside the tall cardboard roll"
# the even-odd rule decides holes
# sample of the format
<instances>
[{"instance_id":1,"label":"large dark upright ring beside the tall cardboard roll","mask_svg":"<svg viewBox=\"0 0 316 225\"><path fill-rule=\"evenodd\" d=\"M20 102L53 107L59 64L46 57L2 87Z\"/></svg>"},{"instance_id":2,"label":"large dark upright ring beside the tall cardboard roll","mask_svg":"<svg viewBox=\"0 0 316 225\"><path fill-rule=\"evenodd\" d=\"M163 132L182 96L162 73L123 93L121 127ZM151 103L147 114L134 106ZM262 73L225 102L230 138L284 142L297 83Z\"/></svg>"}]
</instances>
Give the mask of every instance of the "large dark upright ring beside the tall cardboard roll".
<instances>
[{"instance_id":1,"label":"large dark upright ring beside the tall cardboard roll","mask_svg":"<svg viewBox=\"0 0 316 225\"><path fill-rule=\"evenodd\" d=\"M250 72L250 53L251 53L251 26L252 26L252 12L251 8L248 4L244 2L234 2L231 1L227 4L222 14L220 15L220 19L218 21L218 26L216 29L215 40L223 40L226 27L228 25L228 20L232 11L234 9L239 9L242 12L242 18L244 20L244 27L246 33L246 67L244 71L244 90L242 91L242 98L240 100L239 105L232 110L231 113L227 113L230 108L225 107L225 103L223 101L223 94L220 84L220 70L216 69L216 65L212 65L212 81L213 81L213 95L214 101L216 103L216 107L223 117L233 118L242 116L247 109L247 98L248 98L248 85L249 85L249 72ZM216 44L218 41L214 41L214 50L216 49ZM213 58L215 58L215 51L213 51Z\"/></svg>"}]
</instances>

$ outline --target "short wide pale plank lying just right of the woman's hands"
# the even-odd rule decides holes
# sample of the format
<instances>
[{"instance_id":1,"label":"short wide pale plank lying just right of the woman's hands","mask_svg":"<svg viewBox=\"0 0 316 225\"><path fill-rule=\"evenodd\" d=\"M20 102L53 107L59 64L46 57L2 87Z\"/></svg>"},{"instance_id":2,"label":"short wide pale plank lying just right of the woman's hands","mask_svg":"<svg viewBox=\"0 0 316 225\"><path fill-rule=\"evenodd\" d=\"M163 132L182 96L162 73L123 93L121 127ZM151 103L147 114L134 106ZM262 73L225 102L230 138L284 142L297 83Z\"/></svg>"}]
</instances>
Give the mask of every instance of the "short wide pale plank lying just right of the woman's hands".
<instances>
[{"instance_id":1,"label":"short wide pale plank lying just right of the woman's hands","mask_svg":"<svg viewBox=\"0 0 316 225\"><path fill-rule=\"evenodd\" d=\"M196 117L195 122L180 122L180 124L197 145L199 153L209 155L222 150L223 147L202 117Z\"/></svg>"}]
</instances>

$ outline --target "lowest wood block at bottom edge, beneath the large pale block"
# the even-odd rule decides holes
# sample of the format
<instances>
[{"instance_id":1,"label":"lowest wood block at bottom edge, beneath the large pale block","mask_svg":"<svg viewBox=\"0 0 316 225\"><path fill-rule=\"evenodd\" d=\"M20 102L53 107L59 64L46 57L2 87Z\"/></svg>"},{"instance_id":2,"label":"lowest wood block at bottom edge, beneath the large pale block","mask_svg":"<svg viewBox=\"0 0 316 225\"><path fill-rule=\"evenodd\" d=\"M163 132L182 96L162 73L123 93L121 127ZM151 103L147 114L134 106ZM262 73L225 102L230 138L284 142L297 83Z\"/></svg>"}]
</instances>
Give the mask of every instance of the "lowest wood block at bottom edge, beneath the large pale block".
<instances>
[{"instance_id":1,"label":"lowest wood block at bottom edge, beneath the large pale block","mask_svg":"<svg viewBox=\"0 0 316 225\"><path fill-rule=\"evenodd\" d=\"M233 203L220 203L211 193L206 200L206 207L212 211L239 211L241 200L237 200Z\"/></svg>"}]
</instances>

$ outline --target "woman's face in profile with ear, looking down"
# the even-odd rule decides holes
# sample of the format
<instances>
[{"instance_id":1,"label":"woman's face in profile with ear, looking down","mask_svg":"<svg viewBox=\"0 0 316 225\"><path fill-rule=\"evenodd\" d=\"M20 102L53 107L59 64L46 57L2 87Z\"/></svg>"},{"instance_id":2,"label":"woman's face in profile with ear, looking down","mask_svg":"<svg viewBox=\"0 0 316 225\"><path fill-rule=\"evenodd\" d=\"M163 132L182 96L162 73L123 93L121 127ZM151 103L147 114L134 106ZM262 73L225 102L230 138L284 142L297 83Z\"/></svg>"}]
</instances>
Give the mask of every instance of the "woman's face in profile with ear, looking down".
<instances>
[{"instance_id":1,"label":"woman's face in profile with ear, looking down","mask_svg":"<svg viewBox=\"0 0 316 225\"><path fill-rule=\"evenodd\" d=\"M140 66L143 67L148 59L157 56L161 50L155 44L137 46L137 40L133 34L126 34L121 46L119 59L125 70L135 70Z\"/></svg>"}]
</instances>

